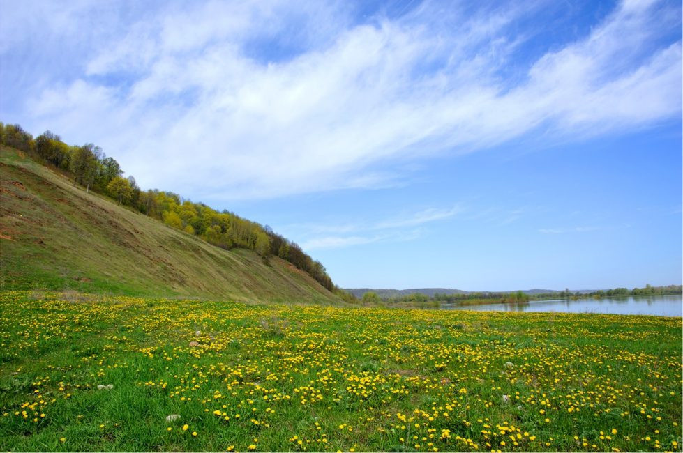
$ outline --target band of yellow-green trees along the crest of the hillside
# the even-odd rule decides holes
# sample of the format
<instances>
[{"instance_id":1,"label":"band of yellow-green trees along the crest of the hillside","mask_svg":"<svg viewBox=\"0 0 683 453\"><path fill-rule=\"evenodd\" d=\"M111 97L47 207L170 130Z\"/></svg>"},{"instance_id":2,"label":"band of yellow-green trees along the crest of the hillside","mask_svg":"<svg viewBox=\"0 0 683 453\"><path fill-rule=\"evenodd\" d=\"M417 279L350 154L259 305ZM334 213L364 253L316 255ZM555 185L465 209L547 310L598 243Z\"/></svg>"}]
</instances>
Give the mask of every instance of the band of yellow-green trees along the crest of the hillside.
<instances>
[{"instance_id":1,"label":"band of yellow-green trees along the crest of the hillside","mask_svg":"<svg viewBox=\"0 0 683 453\"><path fill-rule=\"evenodd\" d=\"M173 192L142 190L133 176L123 178L119 162L105 155L99 146L70 146L49 130L34 139L20 125L3 123L0 123L0 144L17 148L31 158L59 169L87 191L111 197L123 206L199 236L217 247L253 250L264 263L268 263L271 256L278 256L307 272L329 291L335 291L343 298L353 298L334 286L320 261L313 260L299 245L268 226L263 227L227 210L218 212Z\"/></svg>"}]
</instances>

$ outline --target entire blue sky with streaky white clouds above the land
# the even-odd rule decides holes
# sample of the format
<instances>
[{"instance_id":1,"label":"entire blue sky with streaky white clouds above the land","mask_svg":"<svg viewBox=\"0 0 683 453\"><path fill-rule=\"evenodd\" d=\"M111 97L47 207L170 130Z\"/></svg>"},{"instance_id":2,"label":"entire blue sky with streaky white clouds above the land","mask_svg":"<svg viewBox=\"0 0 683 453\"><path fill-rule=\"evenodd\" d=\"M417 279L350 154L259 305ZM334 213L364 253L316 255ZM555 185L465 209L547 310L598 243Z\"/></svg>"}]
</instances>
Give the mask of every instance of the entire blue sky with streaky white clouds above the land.
<instances>
[{"instance_id":1,"label":"entire blue sky with streaky white clouds above the land","mask_svg":"<svg viewBox=\"0 0 683 453\"><path fill-rule=\"evenodd\" d=\"M0 10L0 121L267 224L338 286L681 283L680 1Z\"/></svg>"}]
</instances>

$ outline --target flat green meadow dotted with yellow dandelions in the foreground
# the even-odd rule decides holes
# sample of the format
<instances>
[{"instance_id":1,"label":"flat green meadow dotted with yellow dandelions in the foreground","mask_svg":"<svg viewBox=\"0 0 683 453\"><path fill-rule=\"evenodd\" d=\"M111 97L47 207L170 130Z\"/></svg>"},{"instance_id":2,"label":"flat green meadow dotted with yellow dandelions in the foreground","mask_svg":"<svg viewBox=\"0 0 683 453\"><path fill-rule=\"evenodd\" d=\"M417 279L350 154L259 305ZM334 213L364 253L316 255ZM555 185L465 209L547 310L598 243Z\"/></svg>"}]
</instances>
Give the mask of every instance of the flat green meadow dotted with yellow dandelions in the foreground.
<instances>
[{"instance_id":1,"label":"flat green meadow dotted with yellow dandelions in the foreground","mask_svg":"<svg viewBox=\"0 0 683 453\"><path fill-rule=\"evenodd\" d=\"M680 451L681 344L680 318L4 292L0 449Z\"/></svg>"}]
</instances>

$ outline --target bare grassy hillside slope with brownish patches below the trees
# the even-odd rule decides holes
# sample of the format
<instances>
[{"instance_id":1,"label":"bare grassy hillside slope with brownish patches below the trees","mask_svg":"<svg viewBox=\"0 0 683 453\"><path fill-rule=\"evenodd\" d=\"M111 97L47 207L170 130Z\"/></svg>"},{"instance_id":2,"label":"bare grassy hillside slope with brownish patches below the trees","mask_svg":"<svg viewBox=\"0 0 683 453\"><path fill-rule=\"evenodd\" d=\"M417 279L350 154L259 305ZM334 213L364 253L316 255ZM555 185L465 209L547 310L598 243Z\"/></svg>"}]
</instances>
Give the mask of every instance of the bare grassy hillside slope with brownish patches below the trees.
<instances>
[{"instance_id":1,"label":"bare grassy hillside slope with brownish patches below the trees","mask_svg":"<svg viewBox=\"0 0 683 453\"><path fill-rule=\"evenodd\" d=\"M18 182L18 183L17 183ZM86 193L0 147L0 289L237 300L340 300L281 259L225 251Z\"/></svg>"}]
</instances>

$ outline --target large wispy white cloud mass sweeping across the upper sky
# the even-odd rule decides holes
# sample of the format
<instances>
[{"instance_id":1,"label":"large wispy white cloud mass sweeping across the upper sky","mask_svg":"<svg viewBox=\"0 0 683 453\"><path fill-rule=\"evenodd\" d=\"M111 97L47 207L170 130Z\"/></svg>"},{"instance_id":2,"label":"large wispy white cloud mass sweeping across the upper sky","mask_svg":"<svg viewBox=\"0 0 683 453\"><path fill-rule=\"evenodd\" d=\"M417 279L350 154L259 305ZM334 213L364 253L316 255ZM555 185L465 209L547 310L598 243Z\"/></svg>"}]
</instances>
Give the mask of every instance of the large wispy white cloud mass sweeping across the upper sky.
<instances>
[{"instance_id":1,"label":"large wispy white cloud mass sweeping across the upper sky","mask_svg":"<svg viewBox=\"0 0 683 453\"><path fill-rule=\"evenodd\" d=\"M24 125L96 142L143 187L246 199L386 187L403 176L395 162L541 127L583 137L680 116L668 3L622 3L514 80L501 71L532 38L511 24L536 3L465 17L428 2L360 23L345 4L170 3L113 21L80 77L29 98Z\"/></svg>"}]
</instances>

